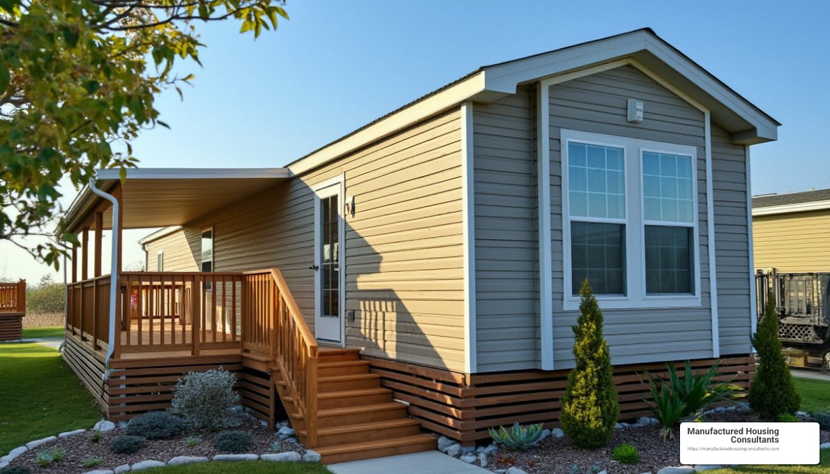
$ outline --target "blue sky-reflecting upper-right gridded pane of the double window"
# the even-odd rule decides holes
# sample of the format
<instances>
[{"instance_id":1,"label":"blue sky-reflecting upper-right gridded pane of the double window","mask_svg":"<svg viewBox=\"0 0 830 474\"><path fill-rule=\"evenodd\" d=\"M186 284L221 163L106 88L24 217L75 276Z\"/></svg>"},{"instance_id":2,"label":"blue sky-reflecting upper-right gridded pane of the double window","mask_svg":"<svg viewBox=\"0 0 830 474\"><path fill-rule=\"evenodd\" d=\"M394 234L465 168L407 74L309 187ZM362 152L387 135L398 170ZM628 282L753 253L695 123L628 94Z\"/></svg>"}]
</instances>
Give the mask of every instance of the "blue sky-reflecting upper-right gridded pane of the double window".
<instances>
[{"instance_id":1,"label":"blue sky-reflecting upper-right gridded pane of the double window","mask_svg":"<svg viewBox=\"0 0 830 474\"><path fill-rule=\"evenodd\" d=\"M647 221L694 222L691 156L643 152L642 193Z\"/></svg>"}]
</instances>

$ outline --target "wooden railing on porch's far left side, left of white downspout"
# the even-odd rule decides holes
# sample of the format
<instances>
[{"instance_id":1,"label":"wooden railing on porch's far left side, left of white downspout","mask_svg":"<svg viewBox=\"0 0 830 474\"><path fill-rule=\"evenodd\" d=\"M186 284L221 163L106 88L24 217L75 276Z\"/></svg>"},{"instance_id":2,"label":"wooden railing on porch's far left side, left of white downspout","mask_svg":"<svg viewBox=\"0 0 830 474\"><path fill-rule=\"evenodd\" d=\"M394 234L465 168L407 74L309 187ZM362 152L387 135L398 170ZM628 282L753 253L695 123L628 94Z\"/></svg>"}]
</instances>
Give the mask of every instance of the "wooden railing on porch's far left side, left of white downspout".
<instances>
[{"instance_id":1,"label":"wooden railing on porch's far left side, left of white downspout","mask_svg":"<svg viewBox=\"0 0 830 474\"><path fill-rule=\"evenodd\" d=\"M66 330L93 349L110 343L109 275L67 285Z\"/></svg>"}]
</instances>

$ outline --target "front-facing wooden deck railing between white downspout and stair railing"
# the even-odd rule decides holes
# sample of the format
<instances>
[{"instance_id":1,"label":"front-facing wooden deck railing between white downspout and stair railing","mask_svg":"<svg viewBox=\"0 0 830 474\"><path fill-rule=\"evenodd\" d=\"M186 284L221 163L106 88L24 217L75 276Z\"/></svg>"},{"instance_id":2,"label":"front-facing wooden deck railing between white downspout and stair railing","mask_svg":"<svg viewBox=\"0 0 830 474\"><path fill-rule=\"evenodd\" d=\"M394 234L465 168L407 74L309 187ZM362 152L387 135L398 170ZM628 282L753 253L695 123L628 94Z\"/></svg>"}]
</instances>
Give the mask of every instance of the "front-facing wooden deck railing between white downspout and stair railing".
<instances>
[{"instance_id":1,"label":"front-facing wooden deck railing between white downspout and stair railing","mask_svg":"<svg viewBox=\"0 0 830 474\"><path fill-rule=\"evenodd\" d=\"M242 273L123 272L117 354L239 349Z\"/></svg>"}]
</instances>

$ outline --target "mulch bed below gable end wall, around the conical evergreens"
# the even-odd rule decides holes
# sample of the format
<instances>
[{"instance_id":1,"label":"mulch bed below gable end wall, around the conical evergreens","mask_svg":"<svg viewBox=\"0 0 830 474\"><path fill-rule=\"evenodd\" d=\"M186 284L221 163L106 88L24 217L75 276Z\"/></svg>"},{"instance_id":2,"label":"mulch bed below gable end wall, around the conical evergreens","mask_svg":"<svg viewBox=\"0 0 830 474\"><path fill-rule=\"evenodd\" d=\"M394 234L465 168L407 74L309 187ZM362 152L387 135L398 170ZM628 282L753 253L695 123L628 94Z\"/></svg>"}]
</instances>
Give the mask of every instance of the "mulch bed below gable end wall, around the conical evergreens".
<instances>
[{"instance_id":1,"label":"mulch bed below gable end wall, around the conical evergreens","mask_svg":"<svg viewBox=\"0 0 830 474\"><path fill-rule=\"evenodd\" d=\"M747 412L710 413L705 419L709 422L725 423L759 421L752 413ZM821 442L830 442L830 432L822 431L820 439ZM611 458L613 448L623 442L637 447L640 462L630 465ZM488 468L504 469L515 466L530 474L570 474L573 467L578 466L579 474L592 472L592 467L598 467L594 472L606 470L609 474L640 474L657 472L666 466L680 465L680 435L676 433L673 441L662 442L660 427L649 425L616 429L608 446L595 451L574 447L568 437L548 437L526 452L500 451L491 457Z\"/></svg>"}]
</instances>

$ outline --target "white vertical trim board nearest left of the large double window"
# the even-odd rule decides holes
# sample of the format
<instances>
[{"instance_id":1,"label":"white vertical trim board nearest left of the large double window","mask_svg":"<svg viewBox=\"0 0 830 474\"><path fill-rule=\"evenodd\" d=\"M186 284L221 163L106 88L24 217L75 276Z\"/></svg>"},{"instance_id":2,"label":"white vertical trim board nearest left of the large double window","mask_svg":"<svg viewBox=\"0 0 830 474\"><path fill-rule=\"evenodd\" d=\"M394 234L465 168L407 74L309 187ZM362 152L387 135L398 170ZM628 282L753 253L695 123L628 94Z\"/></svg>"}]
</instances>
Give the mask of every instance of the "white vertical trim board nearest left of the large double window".
<instances>
[{"instance_id":1,"label":"white vertical trim board nearest left of the large double window","mask_svg":"<svg viewBox=\"0 0 830 474\"><path fill-rule=\"evenodd\" d=\"M549 86L537 87L537 198L539 199L539 327L541 369L554 369L554 289L550 250L550 103Z\"/></svg>"}]
</instances>

